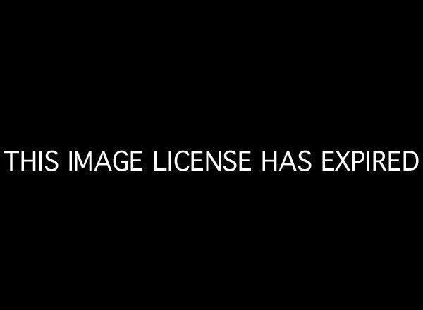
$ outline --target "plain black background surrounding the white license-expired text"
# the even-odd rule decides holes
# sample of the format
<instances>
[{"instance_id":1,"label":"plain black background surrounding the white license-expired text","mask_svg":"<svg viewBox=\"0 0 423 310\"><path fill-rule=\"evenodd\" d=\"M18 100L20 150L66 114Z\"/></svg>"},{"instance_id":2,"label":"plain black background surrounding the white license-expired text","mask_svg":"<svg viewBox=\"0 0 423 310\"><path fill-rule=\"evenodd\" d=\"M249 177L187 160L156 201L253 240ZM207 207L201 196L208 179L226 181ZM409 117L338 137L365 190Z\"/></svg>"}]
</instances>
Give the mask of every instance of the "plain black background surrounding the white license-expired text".
<instances>
[{"instance_id":1,"label":"plain black background surrounding the white license-expired text","mask_svg":"<svg viewBox=\"0 0 423 310\"><path fill-rule=\"evenodd\" d=\"M118 304L413 294L421 168L322 173L319 154L421 156L417 20L175 9L20 8L2 39L1 150L251 149L255 171L3 170L8 291ZM302 149L310 173L259 172L260 151Z\"/></svg>"}]
</instances>

